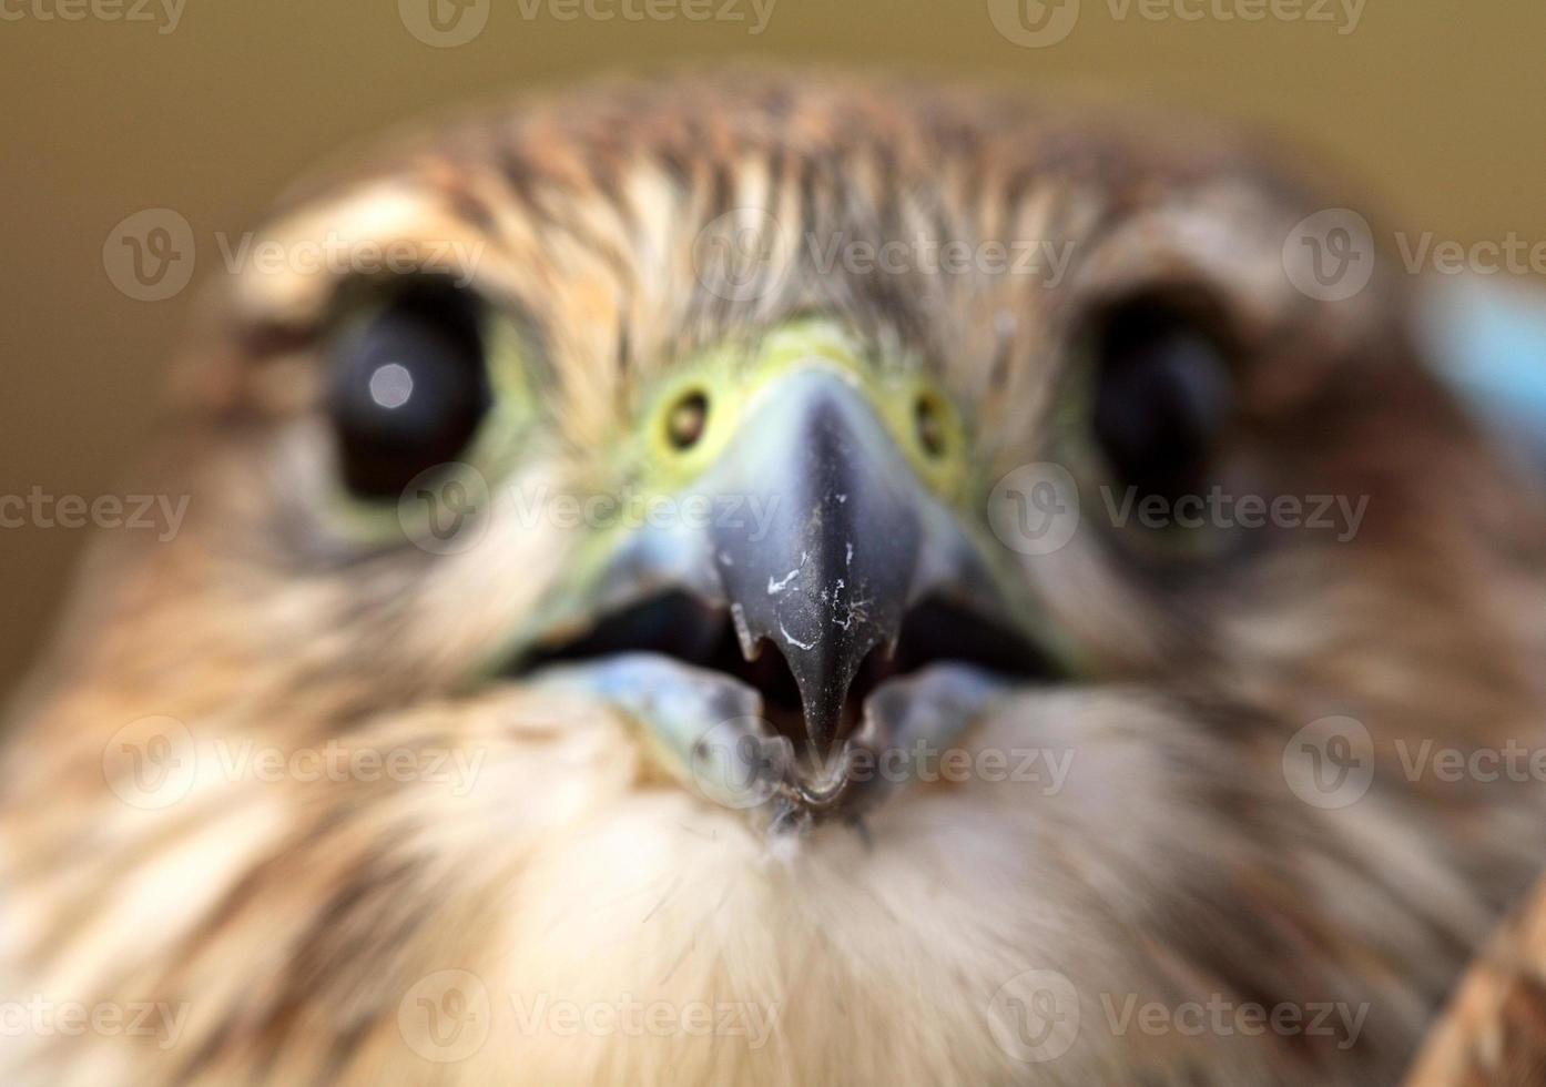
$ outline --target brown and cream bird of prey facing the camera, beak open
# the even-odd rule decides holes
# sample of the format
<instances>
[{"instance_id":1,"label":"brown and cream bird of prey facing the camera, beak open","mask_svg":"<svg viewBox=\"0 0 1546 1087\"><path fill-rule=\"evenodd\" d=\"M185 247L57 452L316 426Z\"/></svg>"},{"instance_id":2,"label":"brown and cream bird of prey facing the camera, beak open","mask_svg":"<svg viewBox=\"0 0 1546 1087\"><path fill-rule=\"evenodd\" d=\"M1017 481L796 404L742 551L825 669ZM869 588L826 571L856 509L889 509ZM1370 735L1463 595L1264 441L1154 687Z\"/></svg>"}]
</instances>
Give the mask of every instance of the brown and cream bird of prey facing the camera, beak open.
<instances>
[{"instance_id":1,"label":"brown and cream bird of prey facing the camera, beak open","mask_svg":"<svg viewBox=\"0 0 1546 1087\"><path fill-rule=\"evenodd\" d=\"M802 70L303 181L8 714L5 1082L1399 1082L1546 526L1354 199Z\"/></svg>"}]
</instances>

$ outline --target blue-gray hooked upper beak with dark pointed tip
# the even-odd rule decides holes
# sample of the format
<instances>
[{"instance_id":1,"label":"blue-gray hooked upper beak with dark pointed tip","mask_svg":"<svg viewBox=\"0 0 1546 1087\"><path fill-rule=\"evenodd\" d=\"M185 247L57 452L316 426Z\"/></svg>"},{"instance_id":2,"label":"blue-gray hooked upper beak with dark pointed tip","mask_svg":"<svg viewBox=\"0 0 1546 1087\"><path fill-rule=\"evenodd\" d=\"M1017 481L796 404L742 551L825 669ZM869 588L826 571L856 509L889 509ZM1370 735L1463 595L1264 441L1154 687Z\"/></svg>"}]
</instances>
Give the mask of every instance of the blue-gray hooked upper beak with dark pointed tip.
<instances>
[{"instance_id":1,"label":"blue-gray hooked upper beak with dark pointed tip","mask_svg":"<svg viewBox=\"0 0 1546 1087\"><path fill-rule=\"evenodd\" d=\"M713 486L756 496L771 516L761 537L750 524L713 530L719 595L742 653L770 642L782 654L826 756L860 665L890 656L908 608L986 580L844 376L796 371L756 407Z\"/></svg>"}]
</instances>

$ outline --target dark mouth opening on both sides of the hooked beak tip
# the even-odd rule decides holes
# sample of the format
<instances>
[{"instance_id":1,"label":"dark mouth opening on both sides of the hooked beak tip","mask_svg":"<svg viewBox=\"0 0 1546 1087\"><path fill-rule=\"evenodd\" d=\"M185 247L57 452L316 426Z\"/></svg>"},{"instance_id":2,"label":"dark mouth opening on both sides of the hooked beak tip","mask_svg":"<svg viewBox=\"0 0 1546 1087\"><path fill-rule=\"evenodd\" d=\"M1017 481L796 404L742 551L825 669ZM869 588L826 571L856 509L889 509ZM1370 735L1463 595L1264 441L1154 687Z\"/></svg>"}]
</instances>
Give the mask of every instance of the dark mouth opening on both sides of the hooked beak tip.
<instances>
[{"instance_id":1,"label":"dark mouth opening on both sides of the hooked beak tip","mask_svg":"<svg viewBox=\"0 0 1546 1087\"><path fill-rule=\"evenodd\" d=\"M767 719L801 748L805 727L795 676L776 645L762 642L758 649L753 660L742 656L727 609L686 592L665 592L608 615L572 640L526 654L513 671L657 653L751 687L762 696ZM1017 682L1065 679L1053 657L1020 634L949 600L929 597L908 612L894 654L875 646L860 665L844 699L838 739L858 727L864 700L877 687L943 662L972 665Z\"/></svg>"}]
</instances>

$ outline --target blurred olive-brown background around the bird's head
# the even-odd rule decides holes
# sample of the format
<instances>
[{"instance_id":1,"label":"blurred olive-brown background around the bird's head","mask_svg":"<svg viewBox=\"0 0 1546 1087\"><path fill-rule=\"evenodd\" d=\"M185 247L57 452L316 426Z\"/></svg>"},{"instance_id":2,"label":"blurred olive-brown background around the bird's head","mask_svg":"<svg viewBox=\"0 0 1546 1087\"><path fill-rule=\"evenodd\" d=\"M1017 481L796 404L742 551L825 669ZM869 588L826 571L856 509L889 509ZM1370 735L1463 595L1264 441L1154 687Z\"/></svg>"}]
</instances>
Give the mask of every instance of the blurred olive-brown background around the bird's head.
<instances>
[{"instance_id":1,"label":"blurred olive-brown background around the bird's head","mask_svg":"<svg viewBox=\"0 0 1546 1087\"><path fill-rule=\"evenodd\" d=\"M122 14L141 3L121 2ZM430 48L397 0L187 0L172 32L161 32L159 3L145 22L93 15L91 0L0 0L0 495L110 492L153 434L164 365L198 291L121 294L102 258L119 220L175 209L195 229L196 280L220 275L215 232L252 226L340 144L598 70L787 59L1175 102L1317 148L1381 193L1404 229L1463 243L1546 238L1538 0L1367 0L1351 32L1339 32L1345 0L1326 8L1334 22L1209 14L1265 0L1183 0L1203 12L1192 22L1147 19L1146 0L1125 17L1113 15L1121 0L1081 0L1073 32L1045 48L1000 36L989 0L776 0L756 36L745 20L621 17L628 3L648 12L643 0L589 0L618 12L604 22L560 19L564 9L540 0L481 2L476 39ZM657 15L680 12L654 3ZM87 17L45 17L71 5ZM731 11L750 20L750 0ZM46 631L85 535L0 529L0 687Z\"/></svg>"}]
</instances>

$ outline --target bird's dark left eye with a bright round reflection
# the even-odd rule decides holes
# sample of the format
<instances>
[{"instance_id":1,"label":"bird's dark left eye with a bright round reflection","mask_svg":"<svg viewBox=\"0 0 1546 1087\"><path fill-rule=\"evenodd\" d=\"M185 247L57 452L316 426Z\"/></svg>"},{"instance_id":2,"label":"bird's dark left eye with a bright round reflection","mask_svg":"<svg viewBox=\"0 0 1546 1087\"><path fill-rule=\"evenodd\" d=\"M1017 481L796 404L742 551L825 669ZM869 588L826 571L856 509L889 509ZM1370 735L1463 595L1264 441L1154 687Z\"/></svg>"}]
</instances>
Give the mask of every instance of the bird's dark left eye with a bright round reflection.
<instances>
[{"instance_id":1,"label":"bird's dark left eye with a bright round reflection","mask_svg":"<svg viewBox=\"0 0 1546 1087\"><path fill-rule=\"evenodd\" d=\"M490 400L478 319L470 292L424 283L340 331L328 411L351 492L396 499L468 445Z\"/></svg>"}]
</instances>

